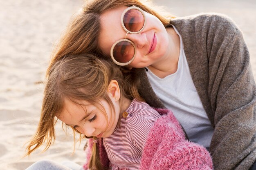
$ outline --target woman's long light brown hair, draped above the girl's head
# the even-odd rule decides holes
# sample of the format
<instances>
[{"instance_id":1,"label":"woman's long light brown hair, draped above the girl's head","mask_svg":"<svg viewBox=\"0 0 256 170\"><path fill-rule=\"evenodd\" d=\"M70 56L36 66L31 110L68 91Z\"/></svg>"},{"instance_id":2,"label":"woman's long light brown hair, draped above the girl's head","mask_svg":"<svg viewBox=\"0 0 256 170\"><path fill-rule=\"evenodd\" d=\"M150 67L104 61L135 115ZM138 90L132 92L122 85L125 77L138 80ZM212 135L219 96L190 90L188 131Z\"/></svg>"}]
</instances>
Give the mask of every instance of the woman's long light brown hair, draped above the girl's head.
<instances>
[{"instance_id":1,"label":"woman's long light brown hair, draped above the girl's head","mask_svg":"<svg viewBox=\"0 0 256 170\"><path fill-rule=\"evenodd\" d=\"M170 20L175 18L171 14L164 13L162 8L149 0L87 0L82 10L73 16L54 49L47 74L52 65L67 54L94 53L104 56L98 46L101 14L110 9L132 5L156 16L164 26L169 25Z\"/></svg>"}]
</instances>

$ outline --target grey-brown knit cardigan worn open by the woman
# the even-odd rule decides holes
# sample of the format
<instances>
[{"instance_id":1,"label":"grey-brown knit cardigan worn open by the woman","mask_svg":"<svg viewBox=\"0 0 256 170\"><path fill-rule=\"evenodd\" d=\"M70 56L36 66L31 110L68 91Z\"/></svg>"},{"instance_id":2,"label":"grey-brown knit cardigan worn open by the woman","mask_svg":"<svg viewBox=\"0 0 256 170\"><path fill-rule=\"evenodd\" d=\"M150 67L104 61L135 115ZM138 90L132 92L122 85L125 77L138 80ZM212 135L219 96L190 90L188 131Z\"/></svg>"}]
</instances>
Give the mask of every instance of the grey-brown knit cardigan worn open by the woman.
<instances>
[{"instance_id":1,"label":"grey-brown knit cardigan worn open by the woman","mask_svg":"<svg viewBox=\"0 0 256 170\"><path fill-rule=\"evenodd\" d=\"M170 23L182 36L193 83L214 128L209 150L215 170L248 170L256 160L256 86L241 31L215 13ZM146 69L136 72L141 96L152 107L164 107Z\"/></svg>"}]
</instances>

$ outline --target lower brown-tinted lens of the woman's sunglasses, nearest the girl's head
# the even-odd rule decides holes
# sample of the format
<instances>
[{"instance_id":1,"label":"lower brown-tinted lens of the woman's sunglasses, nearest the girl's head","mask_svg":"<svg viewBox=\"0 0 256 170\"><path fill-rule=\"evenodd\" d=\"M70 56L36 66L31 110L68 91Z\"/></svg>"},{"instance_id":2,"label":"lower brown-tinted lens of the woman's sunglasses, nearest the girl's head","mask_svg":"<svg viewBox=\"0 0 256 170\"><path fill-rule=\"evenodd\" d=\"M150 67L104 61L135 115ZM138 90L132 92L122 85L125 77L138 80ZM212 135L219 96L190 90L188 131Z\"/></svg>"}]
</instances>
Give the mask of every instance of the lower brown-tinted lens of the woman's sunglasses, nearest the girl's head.
<instances>
[{"instance_id":1,"label":"lower brown-tinted lens of the woman's sunglasses, nearest the girl's head","mask_svg":"<svg viewBox=\"0 0 256 170\"><path fill-rule=\"evenodd\" d=\"M135 54L134 46L128 41L118 42L113 49L113 56L119 63L127 63Z\"/></svg>"}]
</instances>

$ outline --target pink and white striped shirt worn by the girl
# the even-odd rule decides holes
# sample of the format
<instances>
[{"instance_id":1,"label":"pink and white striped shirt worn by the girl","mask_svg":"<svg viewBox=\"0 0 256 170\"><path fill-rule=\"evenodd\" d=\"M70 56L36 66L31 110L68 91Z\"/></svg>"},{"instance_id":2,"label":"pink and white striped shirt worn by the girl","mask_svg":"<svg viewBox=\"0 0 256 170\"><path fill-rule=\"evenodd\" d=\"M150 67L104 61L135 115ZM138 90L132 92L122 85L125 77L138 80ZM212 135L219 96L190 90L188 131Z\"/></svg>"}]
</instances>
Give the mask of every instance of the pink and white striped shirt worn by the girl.
<instances>
[{"instance_id":1,"label":"pink and white striped shirt worn by the girl","mask_svg":"<svg viewBox=\"0 0 256 170\"><path fill-rule=\"evenodd\" d=\"M147 103L137 99L132 100L126 112L128 116L121 117L117 130L103 139L112 170L139 169L142 150L150 128L160 117L160 114Z\"/></svg>"}]
</instances>

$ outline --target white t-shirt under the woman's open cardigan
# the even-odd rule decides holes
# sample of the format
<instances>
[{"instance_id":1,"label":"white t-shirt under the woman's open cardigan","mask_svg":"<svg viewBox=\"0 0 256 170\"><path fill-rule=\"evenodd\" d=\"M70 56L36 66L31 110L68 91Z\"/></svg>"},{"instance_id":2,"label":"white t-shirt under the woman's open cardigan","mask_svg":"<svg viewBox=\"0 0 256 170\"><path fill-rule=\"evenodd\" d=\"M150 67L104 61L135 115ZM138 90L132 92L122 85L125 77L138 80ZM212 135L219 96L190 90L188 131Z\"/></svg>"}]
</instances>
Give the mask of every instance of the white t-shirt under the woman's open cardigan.
<instances>
[{"instance_id":1,"label":"white t-shirt under the woman's open cardigan","mask_svg":"<svg viewBox=\"0 0 256 170\"><path fill-rule=\"evenodd\" d=\"M173 28L180 36L177 29ZM192 81L181 36L177 71L165 78L157 77L150 69L146 74L154 92L166 108L173 112L189 140L209 148L213 127Z\"/></svg>"}]
</instances>

